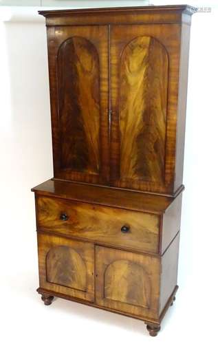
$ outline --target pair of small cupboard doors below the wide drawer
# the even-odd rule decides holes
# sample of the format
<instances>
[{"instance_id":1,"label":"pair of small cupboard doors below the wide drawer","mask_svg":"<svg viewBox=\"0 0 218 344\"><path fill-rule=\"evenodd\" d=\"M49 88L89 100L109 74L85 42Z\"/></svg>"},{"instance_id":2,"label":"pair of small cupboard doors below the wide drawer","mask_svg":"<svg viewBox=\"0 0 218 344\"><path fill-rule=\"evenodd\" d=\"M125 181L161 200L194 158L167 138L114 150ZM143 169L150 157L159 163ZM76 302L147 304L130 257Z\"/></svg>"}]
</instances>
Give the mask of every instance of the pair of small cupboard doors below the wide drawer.
<instances>
[{"instance_id":1,"label":"pair of small cupboard doors below the wide drawer","mask_svg":"<svg viewBox=\"0 0 218 344\"><path fill-rule=\"evenodd\" d=\"M41 288L135 317L158 319L158 257L42 233L38 245Z\"/></svg>"}]
</instances>

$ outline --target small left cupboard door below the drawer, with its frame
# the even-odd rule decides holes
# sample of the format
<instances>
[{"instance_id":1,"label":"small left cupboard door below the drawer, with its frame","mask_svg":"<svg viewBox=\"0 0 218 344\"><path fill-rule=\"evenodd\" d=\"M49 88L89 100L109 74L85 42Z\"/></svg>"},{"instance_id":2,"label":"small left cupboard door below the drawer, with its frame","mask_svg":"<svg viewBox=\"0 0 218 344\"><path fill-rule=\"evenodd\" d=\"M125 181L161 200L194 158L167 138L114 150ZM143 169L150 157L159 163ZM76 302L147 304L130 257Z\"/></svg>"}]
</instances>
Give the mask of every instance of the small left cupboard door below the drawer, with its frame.
<instances>
[{"instance_id":1,"label":"small left cupboard door below the drawer, with its frame","mask_svg":"<svg viewBox=\"0 0 218 344\"><path fill-rule=\"evenodd\" d=\"M40 287L94 301L94 245L38 234Z\"/></svg>"}]
</instances>

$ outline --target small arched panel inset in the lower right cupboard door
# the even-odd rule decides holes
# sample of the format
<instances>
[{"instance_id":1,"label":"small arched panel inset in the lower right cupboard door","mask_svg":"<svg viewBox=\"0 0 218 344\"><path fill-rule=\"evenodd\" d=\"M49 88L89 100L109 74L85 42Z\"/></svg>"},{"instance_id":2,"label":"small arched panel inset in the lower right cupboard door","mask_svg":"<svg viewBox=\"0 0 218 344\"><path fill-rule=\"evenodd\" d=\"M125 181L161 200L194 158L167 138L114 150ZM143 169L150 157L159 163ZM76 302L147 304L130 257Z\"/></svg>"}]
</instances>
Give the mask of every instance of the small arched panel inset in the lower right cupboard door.
<instances>
[{"instance_id":1,"label":"small arched panel inset in the lower right cupboard door","mask_svg":"<svg viewBox=\"0 0 218 344\"><path fill-rule=\"evenodd\" d=\"M106 299L150 308L151 281L140 264L113 261L105 270L104 286Z\"/></svg>"}]
</instances>

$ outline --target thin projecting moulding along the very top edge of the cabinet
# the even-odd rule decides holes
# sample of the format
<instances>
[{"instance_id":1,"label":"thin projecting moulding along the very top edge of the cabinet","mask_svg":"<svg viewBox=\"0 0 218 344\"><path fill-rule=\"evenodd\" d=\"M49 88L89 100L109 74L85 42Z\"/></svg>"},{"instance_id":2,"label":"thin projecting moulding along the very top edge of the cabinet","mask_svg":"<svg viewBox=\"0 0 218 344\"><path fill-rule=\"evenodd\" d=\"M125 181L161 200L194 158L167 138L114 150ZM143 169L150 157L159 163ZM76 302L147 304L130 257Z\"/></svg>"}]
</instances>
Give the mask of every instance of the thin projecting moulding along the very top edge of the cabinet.
<instances>
[{"instance_id":1,"label":"thin projecting moulding along the very top edge of the cabinet","mask_svg":"<svg viewBox=\"0 0 218 344\"><path fill-rule=\"evenodd\" d=\"M108 14L116 12L120 14L128 14L134 12L181 12L189 14L190 16L197 12L197 8L189 5L166 5L166 6L135 6L135 7L113 7L113 8L79 8L79 9L66 9L66 10L39 10L39 14L43 17L56 17L56 16L71 16L74 14Z\"/></svg>"}]
</instances>

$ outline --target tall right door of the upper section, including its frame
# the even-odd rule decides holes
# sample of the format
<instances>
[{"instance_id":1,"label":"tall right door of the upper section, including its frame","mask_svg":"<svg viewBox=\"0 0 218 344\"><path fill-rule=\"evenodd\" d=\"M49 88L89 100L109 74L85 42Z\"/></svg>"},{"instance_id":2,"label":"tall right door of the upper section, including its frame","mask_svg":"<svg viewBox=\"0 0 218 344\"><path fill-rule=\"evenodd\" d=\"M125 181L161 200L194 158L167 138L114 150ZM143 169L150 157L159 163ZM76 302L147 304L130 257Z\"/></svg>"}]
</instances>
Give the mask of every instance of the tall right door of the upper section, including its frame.
<instances>
[{"instance_id":1,"label":"tall right door of the upper section, including its frame","mask_svg":"<svg viewBox=\"0 0 218 344\"><path fill-rule=\"evenodd\" d=\"M111 178L113 186L171 195L175 192L180 32L181 25L179 24L114 25L111 28L111 164L113 165ZM139 61L137 63L138 68L142 70L140 74L137 72L134 74L138 75L135 78L134 95L136 93L139 98L133 103L134 110L129 106L132 132L120 142L120 120L122 121L123 111L119 99L120 89L122 89L120 56L129 44L133 45L133 42L143 38L145 40L146 37L152 37L152 41L155 42L153 51L149 50L149 55L153 55L154 65L149 61L149 57L147 60L142 60L141 65ZM141 45L138 44L138 46L140 49ZM145 49L142 52L145 54ZM139 58L140 54L136 56ZM154 56L157 58L155 59ZM150 70L148 68L144 71L143 67L146 65L149 68L153 67L153 70L149 76L151 80L144 80L142 87L141 79L143 76L146 78ZM126 79L124 78L124 83L127 83ZM123 93L123 97L126 93ZM151 103L149 103L150 99ZM133 101L133 94L129 101ZM130 121L129 118L126 120ZM135 140L133 144L129 144L129 151L123 149L122 155L121 143L123 140L127 144L131 142L132 135L136 135ZM135 169L138 168L138 175L135 175L135 178L122 178L122 159L125 154L127 160L128 157L129 160L133 160ZM140 169L135 159L140 161ZM144 166L143 169L142 166Z\"/></svg>"}]
</instances>

